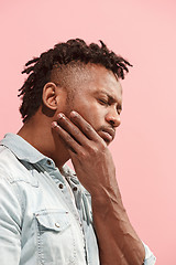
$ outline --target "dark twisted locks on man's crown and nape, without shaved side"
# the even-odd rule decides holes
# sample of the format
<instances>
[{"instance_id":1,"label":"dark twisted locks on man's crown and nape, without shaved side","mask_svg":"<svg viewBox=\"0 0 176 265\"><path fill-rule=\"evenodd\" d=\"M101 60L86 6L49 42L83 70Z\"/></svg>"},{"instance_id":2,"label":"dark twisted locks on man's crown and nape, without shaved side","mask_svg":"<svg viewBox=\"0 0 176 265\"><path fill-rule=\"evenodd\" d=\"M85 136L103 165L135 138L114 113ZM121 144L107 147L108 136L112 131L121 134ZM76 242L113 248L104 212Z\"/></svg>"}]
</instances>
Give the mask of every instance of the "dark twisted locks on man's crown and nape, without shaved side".
<instances>
[{"instance_id":1,"label":"dark twisted locks on man's crown and nape, without shaved side","mask_svg":"<svg viewBox=\"0 0 176 265\"><path fill-rule=\"evenodd\" d=\"M19 89L19 96L22 96L20 113L23 123L29 120L41 106L43 87L51 81L51 72L56 64L92 63L112 71L118 78L124 78L124 72L129 72L128 66L132 65L122 56L110 51L102 41L100 41L100 44L90 43L88 45L80 39L68 40L56 44L54 49L42 53L41 56L34 57L25 64L22 74L25 73L29 76Z\"/></svg>"}]
</instances>

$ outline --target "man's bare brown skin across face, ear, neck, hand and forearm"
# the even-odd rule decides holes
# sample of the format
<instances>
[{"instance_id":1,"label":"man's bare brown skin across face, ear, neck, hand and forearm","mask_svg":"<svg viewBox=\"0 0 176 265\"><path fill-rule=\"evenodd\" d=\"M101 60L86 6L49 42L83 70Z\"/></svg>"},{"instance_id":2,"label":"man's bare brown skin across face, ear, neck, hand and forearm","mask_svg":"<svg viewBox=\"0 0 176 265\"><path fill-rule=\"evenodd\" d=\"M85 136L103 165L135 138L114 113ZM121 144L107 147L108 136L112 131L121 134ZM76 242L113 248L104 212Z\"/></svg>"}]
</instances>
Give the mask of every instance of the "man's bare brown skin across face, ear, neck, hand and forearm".
<instances>
[{"instance_id":1,"label":"man's bare brown skin across face, ear, neck, hand and forearm","mask_svg":"<svg viewBox=\"0 0 176 265\"><path fill-rule=\"evenodd\" d=\"M144 247L123 206L108 148L120 125L122 88L105 67L94 65L89 72L85 83L80 77L79 88L76 84L69 103L65 89L47 84L43 102L55 110L54 116L43 115L41 107L19 135L51 157L61 170L72 159L79 181L92 198L101 265L142 265Z\"/></svg>"}]
</instances>

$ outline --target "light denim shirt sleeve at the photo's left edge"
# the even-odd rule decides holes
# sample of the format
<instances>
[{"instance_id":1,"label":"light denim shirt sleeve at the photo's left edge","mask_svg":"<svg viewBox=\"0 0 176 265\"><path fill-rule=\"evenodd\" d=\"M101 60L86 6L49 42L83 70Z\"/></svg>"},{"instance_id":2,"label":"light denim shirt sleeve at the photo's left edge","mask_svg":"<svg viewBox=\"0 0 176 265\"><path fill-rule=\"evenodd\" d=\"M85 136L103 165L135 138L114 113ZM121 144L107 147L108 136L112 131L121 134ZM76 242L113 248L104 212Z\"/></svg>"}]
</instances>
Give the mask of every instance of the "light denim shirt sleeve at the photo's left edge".
<instances>
[{"instance_id":1,"label":"light denim shirt sleeve at the photo's left edge","mask_svg":"<svg viewBox=\"0 0 176 265\"><path fill-rule=\"evenodd\" d=\"M18 265L21 255L21 206L13 190L13 184L0 173L1 265Z\"/></svg>"}]
</instances>

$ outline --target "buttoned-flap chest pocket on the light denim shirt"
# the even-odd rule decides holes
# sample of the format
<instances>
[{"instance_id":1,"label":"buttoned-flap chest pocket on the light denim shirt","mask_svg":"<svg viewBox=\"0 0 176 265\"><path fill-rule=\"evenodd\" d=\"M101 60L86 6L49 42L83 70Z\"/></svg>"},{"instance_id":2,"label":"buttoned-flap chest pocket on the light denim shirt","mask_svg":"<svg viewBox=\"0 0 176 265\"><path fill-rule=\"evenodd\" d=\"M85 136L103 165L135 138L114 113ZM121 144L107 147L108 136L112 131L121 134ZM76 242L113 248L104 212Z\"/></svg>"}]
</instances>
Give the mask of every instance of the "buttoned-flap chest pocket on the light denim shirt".
<instances>
[{"instance_id":1,"label":"buttoned-flap chest pocket on the light denim shirt","mask_svg":"<svg viewBox=\"0 0 176 265\"><path fill-rule=\"evenodd\" d=\"M34 216L38 264L75 264L76 242L69 213L65 210L43 210Z\"/></svg>"}]
</instances>

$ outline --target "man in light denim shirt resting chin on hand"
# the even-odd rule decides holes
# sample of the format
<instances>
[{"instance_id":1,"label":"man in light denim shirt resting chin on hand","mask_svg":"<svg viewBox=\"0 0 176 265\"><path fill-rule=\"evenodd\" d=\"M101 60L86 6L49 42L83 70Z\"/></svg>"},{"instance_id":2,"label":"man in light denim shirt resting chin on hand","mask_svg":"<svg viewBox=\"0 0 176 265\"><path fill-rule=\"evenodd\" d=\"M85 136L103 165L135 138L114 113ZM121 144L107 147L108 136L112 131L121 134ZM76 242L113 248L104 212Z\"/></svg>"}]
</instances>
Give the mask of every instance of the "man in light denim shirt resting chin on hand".
<instances>
[{"instance_id":1,"label":"man in light denim shirt resting chin on hand","mask_svg":"<svg viewBox=\"0 0 176 265\"><path fill-rule=\"evenodd\" d=\"M128 65L79 39L26 63L24 125L0 146L1 265L155 263L128 219L108 149Z\"/></svg>"}]
</instances>

